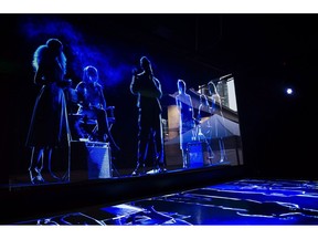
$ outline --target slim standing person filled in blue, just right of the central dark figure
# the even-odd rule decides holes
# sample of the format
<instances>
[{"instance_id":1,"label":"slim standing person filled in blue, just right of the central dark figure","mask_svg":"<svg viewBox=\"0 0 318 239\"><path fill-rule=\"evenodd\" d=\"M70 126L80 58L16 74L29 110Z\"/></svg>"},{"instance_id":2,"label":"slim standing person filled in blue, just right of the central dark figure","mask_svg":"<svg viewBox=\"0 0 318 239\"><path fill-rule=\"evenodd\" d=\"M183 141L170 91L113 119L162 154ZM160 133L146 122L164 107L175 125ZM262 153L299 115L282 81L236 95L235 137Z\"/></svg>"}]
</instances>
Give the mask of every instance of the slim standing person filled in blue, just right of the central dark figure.
<instances>
[{"instance_id":1,"label":"slim standing person filled in blue, just right of the central dark figure","mask_svg":"<svg viewBox=\"0 0 318 239\"><path fill-rule=\"evenodd\" d=\"M183 168L189 166L189 158L187 154L188 142L184 139L184 134L191 131L191 141L195 141L195 118L193 113L193 105L191 96L186 92L187 84L183 80L178 80L178 94L176 95L176 104L179 110L179 137L180 149L182 152Z\"/></svg>"}]
</instances>

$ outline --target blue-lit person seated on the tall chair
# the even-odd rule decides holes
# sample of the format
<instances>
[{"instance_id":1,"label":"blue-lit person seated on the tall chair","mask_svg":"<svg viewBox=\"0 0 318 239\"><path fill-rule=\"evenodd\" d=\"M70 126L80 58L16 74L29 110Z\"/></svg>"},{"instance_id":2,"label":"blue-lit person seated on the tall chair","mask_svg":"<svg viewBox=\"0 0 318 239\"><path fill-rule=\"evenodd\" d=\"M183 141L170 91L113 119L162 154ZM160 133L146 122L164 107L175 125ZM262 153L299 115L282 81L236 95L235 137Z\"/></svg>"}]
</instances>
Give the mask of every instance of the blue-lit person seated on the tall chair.
<instances>
[{"instance_id":1,"label":"blue-lit person seated on the tall chair","mask_svg":"<svg viewBox=\"0 0 318 239\"><path fill-rule=\"evenodd\" d=\"M106 101L103 93L103 86L98 83L98 71L96 67L88 65L83 70L83 81L75 89L78 97L77 114L83 115L84 124L89 119L97 119L97 132L91 132L91 136L98 142L109 139L113 149L118 150L109 129L106 112ZM77 129L81 132L81 127ZM96 137L95 135L96 134Z\"/></svg>"}]
</instances>

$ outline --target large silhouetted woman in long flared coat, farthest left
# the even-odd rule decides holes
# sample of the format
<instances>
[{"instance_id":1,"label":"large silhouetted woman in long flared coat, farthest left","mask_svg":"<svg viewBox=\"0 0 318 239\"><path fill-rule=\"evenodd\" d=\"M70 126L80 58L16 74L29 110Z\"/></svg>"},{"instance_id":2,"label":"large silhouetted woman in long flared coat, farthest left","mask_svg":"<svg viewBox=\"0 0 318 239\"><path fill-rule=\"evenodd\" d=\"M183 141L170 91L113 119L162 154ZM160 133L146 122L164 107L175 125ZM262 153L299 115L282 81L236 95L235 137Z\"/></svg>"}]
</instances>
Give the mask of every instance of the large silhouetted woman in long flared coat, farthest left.
<instances>
[{"instance_id":1,"label":"large silhouetted woman in long flared coat, farthest left","mask_svg":"<svg viewBox=\"0 0 318 239\"><path fill-rule=\"evenodd\" d=\"M33 55L35 70L34 83L42 86L33 108L26 146L32 148L30 162L30 178L33 184L44 183L42 169L51 170L51 157L54 149L66 149L66 155L59 158L68 162L70 129L67 122L66 102L63 87L68 84L64 81L66 58L62 42L57 39L47 40L40 45ZM67 175L65 175L67 176Z\"/></svg>"}]
</instances>

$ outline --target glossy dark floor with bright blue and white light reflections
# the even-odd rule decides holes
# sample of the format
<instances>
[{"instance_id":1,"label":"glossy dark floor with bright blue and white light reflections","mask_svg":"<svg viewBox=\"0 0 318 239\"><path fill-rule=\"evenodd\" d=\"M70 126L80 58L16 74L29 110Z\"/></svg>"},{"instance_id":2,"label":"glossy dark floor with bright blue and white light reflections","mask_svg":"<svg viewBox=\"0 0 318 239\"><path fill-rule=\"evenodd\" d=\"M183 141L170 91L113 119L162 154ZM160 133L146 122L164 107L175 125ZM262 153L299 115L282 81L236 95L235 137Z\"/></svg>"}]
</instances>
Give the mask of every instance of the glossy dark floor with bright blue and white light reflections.
<instances>
[{"instance_id":1,"label":"glossy dark floor with bright blue and white light reflections","mask_svg":"<svg viewBox=\"0 0 318 239\"><path fill-rule=\"evenodd\" d=\"M318 225L318 181L242 179L18 225Z\"/></svg>"}]
</instances>

